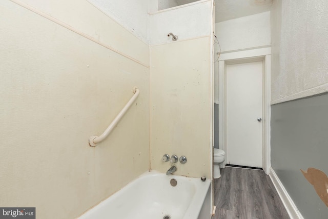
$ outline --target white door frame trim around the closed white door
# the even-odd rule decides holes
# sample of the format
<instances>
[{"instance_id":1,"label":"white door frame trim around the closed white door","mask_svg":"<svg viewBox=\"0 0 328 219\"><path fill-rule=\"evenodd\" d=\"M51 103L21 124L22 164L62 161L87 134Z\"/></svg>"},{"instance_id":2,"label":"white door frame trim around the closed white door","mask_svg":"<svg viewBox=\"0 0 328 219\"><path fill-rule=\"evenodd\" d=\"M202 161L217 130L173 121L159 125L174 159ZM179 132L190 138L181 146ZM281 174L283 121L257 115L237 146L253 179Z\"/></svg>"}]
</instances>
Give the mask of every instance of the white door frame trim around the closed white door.
<instances>
[{"instance_id":1,"label":"white door frame trim around the closed white door","mask_svg":"<svg viewBox=\"0 0 328 219\"><path fill-rule=\"evenodd\" d=\"M263 62L263 123L262 123L262 166L266 174L271 167L271 47L256 48L220 54L219 57L219 148L227 151L226 120L226 66L231 64ZM226 160L222 163L224 168Z\"/></svg>"}]
</instances>

